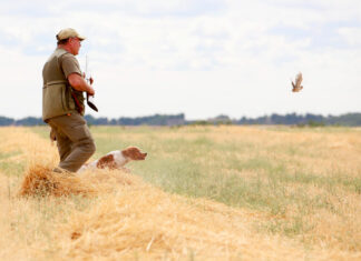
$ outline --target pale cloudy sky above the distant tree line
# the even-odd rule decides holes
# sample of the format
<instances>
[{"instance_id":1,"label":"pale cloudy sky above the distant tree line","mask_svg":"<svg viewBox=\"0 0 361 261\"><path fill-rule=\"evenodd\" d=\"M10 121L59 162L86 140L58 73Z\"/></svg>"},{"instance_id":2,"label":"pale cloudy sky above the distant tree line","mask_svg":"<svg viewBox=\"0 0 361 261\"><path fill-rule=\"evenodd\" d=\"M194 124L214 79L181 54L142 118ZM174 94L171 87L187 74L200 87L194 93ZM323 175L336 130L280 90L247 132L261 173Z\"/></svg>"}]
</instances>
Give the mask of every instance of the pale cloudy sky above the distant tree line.
<instances>
[{"instance_id":1,"label":"pale cloudy sky above the distant tree line","mask_svg":"<svg viewBox=\"0 0 361 261\"><path fill-rule=\"evenodd\" d=\"M0 116L41 117L64 28L87 37L94 117L361 112L360 0L0 0Z\"/></svg>"}]
</instances>

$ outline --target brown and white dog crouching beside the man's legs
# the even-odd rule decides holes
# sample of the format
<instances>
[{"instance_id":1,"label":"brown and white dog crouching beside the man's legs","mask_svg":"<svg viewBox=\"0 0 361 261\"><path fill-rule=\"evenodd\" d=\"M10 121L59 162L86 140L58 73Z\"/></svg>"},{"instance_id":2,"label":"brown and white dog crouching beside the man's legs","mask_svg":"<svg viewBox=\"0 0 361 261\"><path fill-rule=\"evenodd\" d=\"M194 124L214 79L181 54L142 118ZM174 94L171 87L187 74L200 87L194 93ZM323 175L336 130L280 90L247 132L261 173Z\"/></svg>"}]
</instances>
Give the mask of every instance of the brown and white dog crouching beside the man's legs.
<instances>
[{"instance_id":1,"label":"brown and white dog crouching beside the man's legs","mask_svg":"<svg viewBox=\"0 0 361 261\"><path fill-rule=\"evenodd\" d=\"M137 147L128 147L125 150L111 151L96 161L81 165L78 172L88 169L121 169L128 172L129 170L124 168L126 163L133 160L145 160L146 157L147 153L140 152Z\"/></svg>"}]
</instances>

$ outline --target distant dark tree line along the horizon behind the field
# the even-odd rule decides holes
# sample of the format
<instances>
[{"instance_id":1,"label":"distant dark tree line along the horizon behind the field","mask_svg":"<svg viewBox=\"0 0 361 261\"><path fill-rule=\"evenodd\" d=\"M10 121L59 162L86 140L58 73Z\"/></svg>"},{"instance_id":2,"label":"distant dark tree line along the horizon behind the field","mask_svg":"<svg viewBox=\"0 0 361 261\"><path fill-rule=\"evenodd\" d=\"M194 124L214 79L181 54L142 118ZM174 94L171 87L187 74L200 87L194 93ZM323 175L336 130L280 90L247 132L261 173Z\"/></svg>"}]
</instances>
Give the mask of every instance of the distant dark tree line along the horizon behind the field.
<instances>
[{"instance_id":1,"label":"distant dark tree line along the horizon behind the field","mask_svg":"<svg viewBox=\"0 0 361 261\"><path fill-rule=\"evenodd\" d=\"M321 114L296 114L285 116L273 113L258 118L231 119L228 116L217 116L207 120L188 121L184 113L179 114L154 114L147 117L120 117L118 119L95 118L85 116L90 126L185 126L185 124L285 124L285 126L361 126L361 113L345 113L342 116L321 116ZM0 126L42 126L41 118L27 117L14 120L8 117L0 117Z\"/></svg>"}]
</instances>

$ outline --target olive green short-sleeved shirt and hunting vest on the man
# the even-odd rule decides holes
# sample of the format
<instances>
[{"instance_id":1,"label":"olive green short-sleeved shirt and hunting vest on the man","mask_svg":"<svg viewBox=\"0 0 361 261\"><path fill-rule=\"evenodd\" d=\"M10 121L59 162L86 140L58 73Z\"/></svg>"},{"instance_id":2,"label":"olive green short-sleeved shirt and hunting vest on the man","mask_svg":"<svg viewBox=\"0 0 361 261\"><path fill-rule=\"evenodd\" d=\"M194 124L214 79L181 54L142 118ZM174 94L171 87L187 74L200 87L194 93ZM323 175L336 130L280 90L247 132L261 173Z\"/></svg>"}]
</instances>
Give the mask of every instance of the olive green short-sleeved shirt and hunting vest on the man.
<instances>
[{"instance_id":1,"label":"olive green short-sleeved shirt and hunting vest on the man","mask_svg":"<svg viewBox=\"0 0 361 261\"><path fill-rule=\"evenodd\" d=\"M67 56L67 57L66 57ZM67 59L67 62L65 61ZM69 62L70 61L70 62ZM66 69L70 68L70 69ZM42 69L42 120L65 116L78 111L85 112L84 96L81 91L71 88L67 72L76 72L81 76L76 58L64 49L56 49Z\"/></svg>"}]
</instances>

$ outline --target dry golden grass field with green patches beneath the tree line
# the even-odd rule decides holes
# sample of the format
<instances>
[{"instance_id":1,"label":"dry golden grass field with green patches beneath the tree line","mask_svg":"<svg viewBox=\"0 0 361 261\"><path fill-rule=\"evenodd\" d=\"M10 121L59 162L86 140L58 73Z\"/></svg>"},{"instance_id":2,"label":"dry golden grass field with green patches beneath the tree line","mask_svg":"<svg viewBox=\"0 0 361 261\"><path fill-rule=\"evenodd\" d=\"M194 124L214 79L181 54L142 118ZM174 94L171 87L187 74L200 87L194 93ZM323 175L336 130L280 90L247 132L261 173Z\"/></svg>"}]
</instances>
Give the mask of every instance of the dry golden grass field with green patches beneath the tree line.
<instances>
[{"instance_id":1,"label":"dry golden grass field with green patches beneath the tree line","mask_svg":"<svg viewBox=\"0 0 361 261\"><path fill-rule=\"evenodd\" d=\"M46 127L0 128L0 260L361 260L361 129L91 132L94 159L127 145L148 158L23 197L56 145Z\"/></svg>"}]
</instances>

